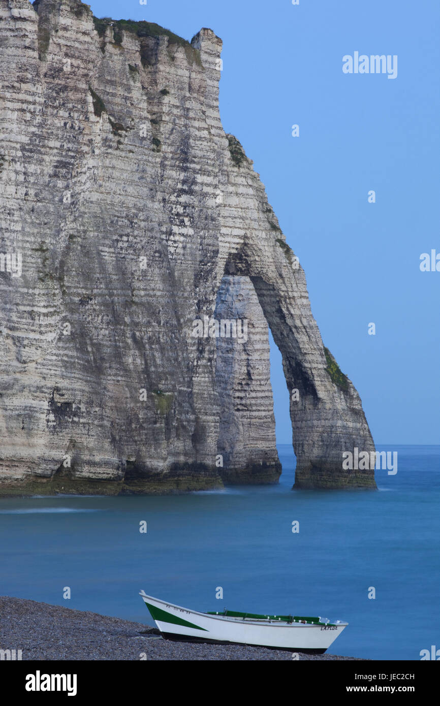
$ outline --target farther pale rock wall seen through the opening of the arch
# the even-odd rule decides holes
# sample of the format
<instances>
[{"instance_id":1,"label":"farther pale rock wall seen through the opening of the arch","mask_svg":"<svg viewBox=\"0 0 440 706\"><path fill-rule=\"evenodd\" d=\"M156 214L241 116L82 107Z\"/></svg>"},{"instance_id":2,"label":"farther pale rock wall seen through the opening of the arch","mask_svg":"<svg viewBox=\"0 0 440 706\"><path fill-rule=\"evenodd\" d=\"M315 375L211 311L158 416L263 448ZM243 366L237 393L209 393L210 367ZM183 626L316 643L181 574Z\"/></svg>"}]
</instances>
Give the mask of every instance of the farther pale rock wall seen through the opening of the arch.
<instances>
[{"instance_id":1,"label":"farther pale rock wall seen through the opening of the arch","mask_svg":"<svg viewBox=\"0 0 440 706\"><path fill-rule=\"evenodd\" d=\"M218 453L225 483L278 481L268 324L249 277L225 275L215 321L237 321L240 337L216 337Z\"/></svg>"}]
</instances>

